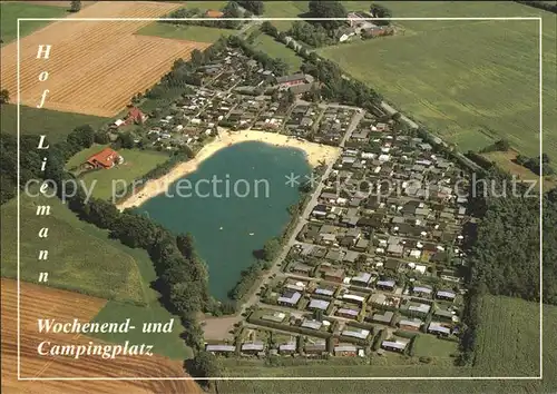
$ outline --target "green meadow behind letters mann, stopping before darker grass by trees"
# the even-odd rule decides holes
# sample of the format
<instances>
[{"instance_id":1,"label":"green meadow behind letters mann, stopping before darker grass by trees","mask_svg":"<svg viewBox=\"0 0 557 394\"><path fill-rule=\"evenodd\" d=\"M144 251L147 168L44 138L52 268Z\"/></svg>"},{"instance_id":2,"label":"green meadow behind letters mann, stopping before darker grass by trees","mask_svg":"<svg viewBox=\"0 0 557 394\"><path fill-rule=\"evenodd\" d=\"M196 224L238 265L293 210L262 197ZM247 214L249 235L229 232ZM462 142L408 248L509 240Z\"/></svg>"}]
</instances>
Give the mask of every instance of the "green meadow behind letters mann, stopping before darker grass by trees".
<instances>
[{"instance_id":1,"label":"green meadow behind letters mann, stopping before darker grass by trees","mask_svg":"<svg viewBox=\"0 0 557 394\"><path fill-rule=\"evenodd\" d=\"M50 205L50 216L37 216L37 205ZM2 276L17 276L17 200L1 207ZM37 234L48 225L48 238ZM38 260L41 249L47 260ZM49 273L49 285L101 298L147 302L137 262L150 263L92 225L80 221L57 198L21 195L21 278L37 282L39 272ZM146 264L146 263L145 263Z\"/></svg>"}]
</instances>

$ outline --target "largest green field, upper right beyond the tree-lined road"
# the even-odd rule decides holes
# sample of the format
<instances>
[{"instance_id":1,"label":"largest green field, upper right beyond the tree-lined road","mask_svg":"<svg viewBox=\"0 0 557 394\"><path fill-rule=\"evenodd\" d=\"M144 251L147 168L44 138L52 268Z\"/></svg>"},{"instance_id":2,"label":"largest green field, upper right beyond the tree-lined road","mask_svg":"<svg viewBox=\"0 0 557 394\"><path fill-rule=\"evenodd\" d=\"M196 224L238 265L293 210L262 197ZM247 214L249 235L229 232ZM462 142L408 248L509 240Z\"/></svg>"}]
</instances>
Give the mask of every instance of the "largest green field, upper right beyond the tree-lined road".
<instances>
[{"instance_id":1,"label":"largest green field, upper right beyond the tree-lined road","mask_svg":"<svg viewBox=\"0 0 557 394\"><path fill-rule=\"evenodd\" d=\"M370 2L359 2L361 9ZM385 3L394 17L543 17L544 150L557 159L556 17L514 2ZM350 8L354 9L355 4ZM395 37L320 49L460 150L539 151L537 21L400 21Z\"/></svg>"}]
</instances>

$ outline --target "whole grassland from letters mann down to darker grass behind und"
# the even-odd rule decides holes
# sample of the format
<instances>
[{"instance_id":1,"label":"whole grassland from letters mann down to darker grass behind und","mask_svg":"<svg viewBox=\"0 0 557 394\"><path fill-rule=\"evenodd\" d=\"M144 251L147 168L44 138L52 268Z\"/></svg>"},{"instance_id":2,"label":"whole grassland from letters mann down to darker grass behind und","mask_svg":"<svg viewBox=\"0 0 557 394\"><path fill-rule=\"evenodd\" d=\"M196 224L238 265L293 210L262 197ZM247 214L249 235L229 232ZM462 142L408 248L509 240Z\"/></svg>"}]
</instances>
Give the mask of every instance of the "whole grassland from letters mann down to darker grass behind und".
<instances>
[{"instance_id":1,"label":"whole grassland from letters mann down to darker grass behind und","mask_svg":"<svg viewBox=\"0 0 557 394\"><path fill-rule=\"evenodd\" d=\"M36 206L50 205L50 216L37 216ZM17 276L17 200L1 209L1 275ZM37 234L48 226L48 238ZM40 249L48 249L47 260L38 262ZM81 221L57 198L21 196L21 279L37 282L40 272L48 272L49 286L109 299L94 318L97 322L120 322L129 317L137 328L125 335L91 334L104 341L153 344L154 352L175 359L192 357L192 349L179 337L179 318L158 302L159 294L150 287L156 279L148 254L110 239L107 230ZM135 305L134 305L135 304ZM139 306L141 305L141 306ZM143 323L165 323L175 318L169 334L141 333Z\"/></svg>"}]
</instances>

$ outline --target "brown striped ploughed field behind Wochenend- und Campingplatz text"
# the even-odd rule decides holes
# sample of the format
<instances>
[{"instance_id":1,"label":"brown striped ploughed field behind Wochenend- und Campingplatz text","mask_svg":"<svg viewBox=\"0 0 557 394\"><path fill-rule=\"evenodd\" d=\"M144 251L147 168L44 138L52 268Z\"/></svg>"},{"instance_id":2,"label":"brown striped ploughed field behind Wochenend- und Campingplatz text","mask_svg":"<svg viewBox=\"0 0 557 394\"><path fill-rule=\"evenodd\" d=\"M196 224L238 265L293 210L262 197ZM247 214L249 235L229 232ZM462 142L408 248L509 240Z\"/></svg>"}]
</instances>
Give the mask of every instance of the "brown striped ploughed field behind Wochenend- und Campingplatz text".
<instances>
[{"instance_id":1,"label":"brown striped ploughed field behind Wochenend- und Campingplatz text","mask_svg":"<svg viewBox=\"0 0 557 394\"><path fill-rule=\"evenodd\" d=\"M68 393L65 381L17 380L17 282L1 280L2 287L2 392ZM40 356L37 346L43 341L57 344L98 343L80 334L39 334L38 318L71 322L90 321L106 301L46 286L21 283L21 377L187 377L180 362L166 357L119 356L102 359L99 356L56 358ZM199 393L194 381L74 381L71 393Z\"/></svg>"}]
</instances>

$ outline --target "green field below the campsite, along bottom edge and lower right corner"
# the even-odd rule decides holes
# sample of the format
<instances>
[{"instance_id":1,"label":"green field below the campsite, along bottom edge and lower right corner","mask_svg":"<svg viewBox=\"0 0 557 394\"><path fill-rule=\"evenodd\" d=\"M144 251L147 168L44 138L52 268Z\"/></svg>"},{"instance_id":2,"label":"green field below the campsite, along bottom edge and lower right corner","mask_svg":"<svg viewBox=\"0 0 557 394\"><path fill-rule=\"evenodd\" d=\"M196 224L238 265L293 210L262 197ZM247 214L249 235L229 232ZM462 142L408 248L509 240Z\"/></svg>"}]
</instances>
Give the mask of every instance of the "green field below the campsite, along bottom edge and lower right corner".
<instances>
[{"instance_id":1,"label":"green field below the campsite, along bottom edge and lower right corner","mask_svg":"<svg viewBox=\"0 0 557 394\"><path fill-rule=\"evenodd\" d=\"M482 302L482 331L471 367L450 366L433 358L431 364L397 356L375 356L372 365L329 364L266 367L262 362L224 359L227 376L342 376L340 381L223 381L218 393L554 393L557 391L557 307L544 309L544 382L531 381L352 381L355 376L537 376L539 359L539 305L517 298L487 296ZM489 319L489 321L486 321ZM420 339L427 336L420 335ZM431 341L440 341L431 337ZM426 339L428 341L428 339ZM423 344L423 343L422 343ZM420 346L420 344L417 344ZM431 344L438 346L439 344ZM417 352L427 349L414 348ZM448 348L447 348L448 349ZM417 355L418 356L418 355ZM414 358L417 358L417 356ZM348 361L346 361L348 363Z\"/></svg>"}]
</instances>

